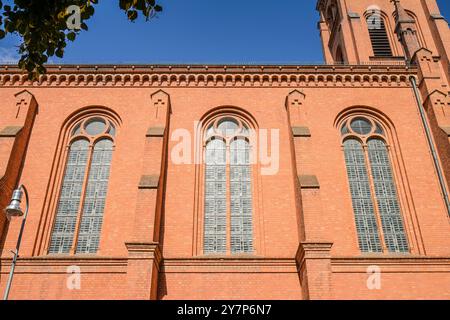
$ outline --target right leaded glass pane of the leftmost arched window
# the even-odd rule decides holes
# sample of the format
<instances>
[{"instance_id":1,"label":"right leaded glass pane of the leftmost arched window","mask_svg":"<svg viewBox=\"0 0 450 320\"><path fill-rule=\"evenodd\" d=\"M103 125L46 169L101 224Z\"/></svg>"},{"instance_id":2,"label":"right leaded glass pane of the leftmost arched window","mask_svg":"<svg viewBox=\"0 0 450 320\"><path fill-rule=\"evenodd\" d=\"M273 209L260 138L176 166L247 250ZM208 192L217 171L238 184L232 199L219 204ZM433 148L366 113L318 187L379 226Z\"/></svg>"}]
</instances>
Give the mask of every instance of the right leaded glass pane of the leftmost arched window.
<instances>
[{"instance_id":1,"label":"right leaded glass pane of the leftmost arched window","mask_svg":"<svg viewBox=\"0 0 450 320\"><path fill-rule=\"evenodd\" d=\"M94 146L78 235L77 253L97 252L112 152L113 143L110 140L100 140Z\"/></svg>"}]
</instances>

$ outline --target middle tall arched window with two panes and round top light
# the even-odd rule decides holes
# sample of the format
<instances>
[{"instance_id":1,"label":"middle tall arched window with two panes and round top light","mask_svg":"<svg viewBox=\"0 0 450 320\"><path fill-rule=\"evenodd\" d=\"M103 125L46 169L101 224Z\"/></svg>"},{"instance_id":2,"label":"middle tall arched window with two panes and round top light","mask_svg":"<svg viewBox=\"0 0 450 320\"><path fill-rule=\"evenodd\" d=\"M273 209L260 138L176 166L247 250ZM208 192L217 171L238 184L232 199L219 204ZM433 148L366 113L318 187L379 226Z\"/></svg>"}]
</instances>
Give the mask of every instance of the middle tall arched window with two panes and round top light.
<instances>
[{"instance_id":1,"label":"middle tall arched window with two panes and round top light","mask_svg":"<svg viewBox=\"0 0 450 320\"><path fill-rule=\"evenodd\" d=\"M248 126L216 119L206 132L204 254L253 252L251 147Z\"/></svg>"}]
</instances>

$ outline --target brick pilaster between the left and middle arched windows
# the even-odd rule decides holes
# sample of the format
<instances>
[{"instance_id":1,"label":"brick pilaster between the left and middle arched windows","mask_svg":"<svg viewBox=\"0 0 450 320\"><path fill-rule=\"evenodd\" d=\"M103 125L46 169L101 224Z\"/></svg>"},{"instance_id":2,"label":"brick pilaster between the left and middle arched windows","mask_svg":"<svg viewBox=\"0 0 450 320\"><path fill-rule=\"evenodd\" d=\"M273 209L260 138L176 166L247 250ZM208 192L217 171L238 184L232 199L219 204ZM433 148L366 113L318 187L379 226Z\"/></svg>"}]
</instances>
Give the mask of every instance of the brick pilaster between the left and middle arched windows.
<instances>
[{"instance_id":1,"label":"brick pilaster between the left and middle arched windows","mask_svg":"<svg viewBox=\"0 0 450 320\"><path fill-rule=\"evenodd\" d=\"M133 237L126 243L128 290L132 299L157 299L162 260L160 230L168 159L170 97L160 90L151 95L151 102Z\"/></svg>"}]
</instances>

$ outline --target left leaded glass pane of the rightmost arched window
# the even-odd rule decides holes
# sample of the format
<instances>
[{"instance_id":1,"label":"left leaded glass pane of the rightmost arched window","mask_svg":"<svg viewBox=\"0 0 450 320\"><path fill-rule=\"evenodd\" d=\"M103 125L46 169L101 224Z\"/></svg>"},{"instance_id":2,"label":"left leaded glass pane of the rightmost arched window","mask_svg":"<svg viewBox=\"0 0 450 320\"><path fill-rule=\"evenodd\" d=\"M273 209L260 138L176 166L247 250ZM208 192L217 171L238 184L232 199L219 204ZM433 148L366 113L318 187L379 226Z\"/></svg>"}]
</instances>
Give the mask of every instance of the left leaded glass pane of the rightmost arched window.
<instances>
[{"instance_id":1,"label":"left leaded glass pane of the rightmost arched window","mask_svg":"<svg viewBox=\"0 0 450 320\"><path fill-rule=\"evenodd\" d=\"M344 142L344 150L360 250L382 252L364 150L354 139Z\"/></svg>"}]
</instances>

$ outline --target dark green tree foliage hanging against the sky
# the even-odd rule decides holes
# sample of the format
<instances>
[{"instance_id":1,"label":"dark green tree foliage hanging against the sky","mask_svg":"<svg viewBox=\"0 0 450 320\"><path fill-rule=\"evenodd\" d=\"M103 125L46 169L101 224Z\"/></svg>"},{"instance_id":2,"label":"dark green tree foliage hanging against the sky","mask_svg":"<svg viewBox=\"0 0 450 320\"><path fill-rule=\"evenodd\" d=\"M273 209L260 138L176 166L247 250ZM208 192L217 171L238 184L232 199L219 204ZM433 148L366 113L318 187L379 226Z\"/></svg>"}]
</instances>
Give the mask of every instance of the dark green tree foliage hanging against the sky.
<instances>
[{"instance_id":1,"label":"dark green tree foliage hanging against the sky","mask_svg":"<svg viewBox=\"0 0 450 320\"><path fill-rule=\"evenodd\" d=\"M49 57L62 58L68 41L75 41L81 31L87 31L87 21L95 14L99 0L0 0L0 39L7 34L21 37L19 67L31 79L45 73ZM107 0L110 1L110 0ZM157 0L116 0L130 21L139 16L153 18L162 7ZM80 28L69 28L73 15L68 8L80 9Z\"/></svg>"}]
</instances>

